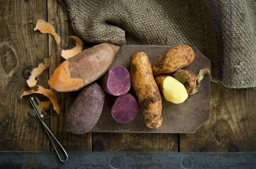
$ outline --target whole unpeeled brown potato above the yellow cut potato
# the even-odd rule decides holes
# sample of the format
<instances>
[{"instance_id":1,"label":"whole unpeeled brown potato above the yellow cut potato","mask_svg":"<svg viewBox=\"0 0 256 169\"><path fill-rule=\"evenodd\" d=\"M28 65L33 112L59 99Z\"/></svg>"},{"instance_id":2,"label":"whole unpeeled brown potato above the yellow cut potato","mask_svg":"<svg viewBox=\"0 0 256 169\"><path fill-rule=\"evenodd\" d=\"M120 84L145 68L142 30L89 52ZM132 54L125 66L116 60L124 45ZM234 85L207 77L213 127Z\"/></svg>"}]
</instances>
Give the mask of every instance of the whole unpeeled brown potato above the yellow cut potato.
<instances>
[{"instance_id":1,"label":"whole unpeeled brown potato above the yellow cut potato","mask_svg":"<svg viewBox=\"0 0 256 169\"><path fill-rule=\"evenodd\" d=\"M195 52L188 45L176 45L159 56L152 67L154 75L173 73L193 62Z\"/></svg>"}]
</instances>

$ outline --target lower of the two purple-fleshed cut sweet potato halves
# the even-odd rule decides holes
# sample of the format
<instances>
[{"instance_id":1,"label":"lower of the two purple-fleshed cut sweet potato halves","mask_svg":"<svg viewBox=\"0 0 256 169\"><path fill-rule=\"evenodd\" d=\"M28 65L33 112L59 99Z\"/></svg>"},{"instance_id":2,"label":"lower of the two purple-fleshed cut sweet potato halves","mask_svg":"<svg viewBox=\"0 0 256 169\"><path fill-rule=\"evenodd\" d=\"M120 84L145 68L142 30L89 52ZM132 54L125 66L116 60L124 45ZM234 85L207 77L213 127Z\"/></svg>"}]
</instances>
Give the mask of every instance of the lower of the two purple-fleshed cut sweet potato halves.
<instances>
[{"instance_id":1,"label":"lower of the two purple-fleshed cut sweet potato halves","mask_svg":"<svg viewBox=\"0 0 256 169\"><path fill-rule=\"evenodd\" d=\"M139 112L139 104L131 94L118 96L111 109L111 115L115 121L121 124L126 124Z\"/></svg>"}]
</instances>

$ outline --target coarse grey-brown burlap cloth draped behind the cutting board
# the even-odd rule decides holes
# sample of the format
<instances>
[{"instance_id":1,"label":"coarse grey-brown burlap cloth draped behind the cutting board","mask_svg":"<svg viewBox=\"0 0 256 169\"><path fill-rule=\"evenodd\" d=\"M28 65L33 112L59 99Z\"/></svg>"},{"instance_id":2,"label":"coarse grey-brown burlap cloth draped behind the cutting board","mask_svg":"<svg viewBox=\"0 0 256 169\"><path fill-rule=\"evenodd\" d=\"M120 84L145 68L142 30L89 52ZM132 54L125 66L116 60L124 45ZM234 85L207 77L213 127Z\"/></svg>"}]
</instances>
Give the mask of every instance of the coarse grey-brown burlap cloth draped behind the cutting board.
<instances>
[{"instance_id":1,"label":"coarse grey-brown burlap cloth draped behind the cutting board","mask_svg":"<svg viewBox=\"0 0 256 169\"><path fill-rule=\"evenodd\" d=\"M255 0L66 0L87 43L197 45L212 77L229 88L256 86Z\"/></svg>"}]
</instances>

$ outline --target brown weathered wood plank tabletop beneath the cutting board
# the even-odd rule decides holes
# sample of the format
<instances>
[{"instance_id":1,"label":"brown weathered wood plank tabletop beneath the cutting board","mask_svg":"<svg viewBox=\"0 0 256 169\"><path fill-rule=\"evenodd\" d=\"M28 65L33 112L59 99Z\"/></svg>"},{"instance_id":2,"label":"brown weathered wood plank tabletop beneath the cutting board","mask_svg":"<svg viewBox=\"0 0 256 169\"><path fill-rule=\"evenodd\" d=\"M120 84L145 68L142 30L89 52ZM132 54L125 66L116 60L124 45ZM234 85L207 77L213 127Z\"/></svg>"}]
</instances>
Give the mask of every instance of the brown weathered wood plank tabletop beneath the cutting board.
<instances>
[{"instance_id":1,"label":"brown weathered wood plank tabletop beneath the cutting board","mask_svg":"<svg viewBox=\"0 0 256 169\"><path fill-rule=\"evenodd\" d=\"M55 26L61 36L57 45L50 35L34 32L38 19ZM27 114L27 98L18 100L26 86L23 70L36 67L46 56L53 56L51 69L40 76L40 85L63 62L61 45L74 35L68 13L57 1L0 0L0 151L53 151L40 121ZM212 86L212 97L218 90ZM48 125L67 151L256 151L256 90L229 89L220 84L219 98L212 102L210 120L195 134L128 134L66 132L66 94L56 93L61 114L51 112Z\"/></svg>"}]
</instances>

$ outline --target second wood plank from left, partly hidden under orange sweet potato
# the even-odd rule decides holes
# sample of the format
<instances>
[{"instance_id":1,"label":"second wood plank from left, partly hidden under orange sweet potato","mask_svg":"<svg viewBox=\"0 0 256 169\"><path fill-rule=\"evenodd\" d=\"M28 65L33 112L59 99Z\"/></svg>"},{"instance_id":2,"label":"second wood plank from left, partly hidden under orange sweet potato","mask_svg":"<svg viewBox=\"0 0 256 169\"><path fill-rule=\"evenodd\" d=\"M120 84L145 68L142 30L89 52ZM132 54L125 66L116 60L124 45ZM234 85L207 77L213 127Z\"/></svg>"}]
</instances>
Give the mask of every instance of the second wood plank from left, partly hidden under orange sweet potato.
<instances>
[{"instance_id":1,"label":"second wood plank from left, partly hidden under orange sweet potato","mask_svg":"<svg viewBox=\"0 0 256 169\"><path fill-rule=\"evenodd\" d=\"M50 69L50 75L56 67L63 62L60 56L61 48L68 43L68 36L74 35L70 20L68 19L68 12L58 1L48 0L48 22L55 26L55 31L61 37L61 43L57 45L53 37L48 39L48 52L53 56L53 64ZM65 147L66 151L91 151L91 133L76 135L66 132L66 93L57 93L59 103L61 104L61 114L57 115L52 112L51 130L58 138L60 143Z\"/></svg>"}]
</instances>

